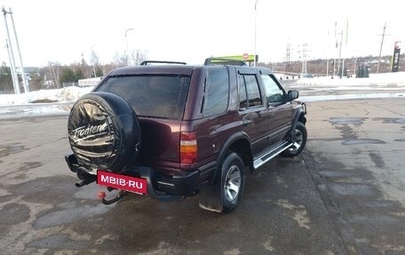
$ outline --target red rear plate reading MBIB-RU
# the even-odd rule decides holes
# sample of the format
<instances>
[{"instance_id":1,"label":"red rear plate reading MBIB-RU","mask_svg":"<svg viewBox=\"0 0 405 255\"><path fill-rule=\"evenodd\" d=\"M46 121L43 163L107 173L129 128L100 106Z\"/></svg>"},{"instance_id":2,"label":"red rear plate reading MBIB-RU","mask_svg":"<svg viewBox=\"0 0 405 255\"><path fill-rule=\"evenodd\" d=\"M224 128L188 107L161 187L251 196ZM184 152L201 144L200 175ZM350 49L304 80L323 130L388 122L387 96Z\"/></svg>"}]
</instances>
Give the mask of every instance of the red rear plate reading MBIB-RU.
<instances>
[{"instance_id":1,"label":"red rear plate reading MBIB-RU","mask_svg":"<svg viewBox=\"0 0 405 255\"><path fill-rule=\"evenodd\" d=\"M147 194L147 179L131 177L109 171L97 171L97 184L115 187L138 194Z\"/></svg>"}]
</instances>

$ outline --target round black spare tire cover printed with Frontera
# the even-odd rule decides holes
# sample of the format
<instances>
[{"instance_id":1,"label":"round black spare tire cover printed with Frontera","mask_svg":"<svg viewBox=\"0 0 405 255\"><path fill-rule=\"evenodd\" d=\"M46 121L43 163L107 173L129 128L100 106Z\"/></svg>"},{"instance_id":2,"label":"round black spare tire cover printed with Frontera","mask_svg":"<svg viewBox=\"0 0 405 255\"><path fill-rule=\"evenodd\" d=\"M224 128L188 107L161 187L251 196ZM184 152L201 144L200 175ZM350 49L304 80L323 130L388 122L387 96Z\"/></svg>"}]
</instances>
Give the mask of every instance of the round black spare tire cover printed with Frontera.
<instances>
[{"instance_id":1,"label":"round black spare tire cover printed with Frontera","mask_svg":"<svg viewBox=\"0 0 405 255\"><path fill-rule=\"evenodd\" d=\"M70 147L88 171L122 172L138 156L140 127L122 98L92 92L75 102L67 121Z\"/></svg>"}]
</instances>

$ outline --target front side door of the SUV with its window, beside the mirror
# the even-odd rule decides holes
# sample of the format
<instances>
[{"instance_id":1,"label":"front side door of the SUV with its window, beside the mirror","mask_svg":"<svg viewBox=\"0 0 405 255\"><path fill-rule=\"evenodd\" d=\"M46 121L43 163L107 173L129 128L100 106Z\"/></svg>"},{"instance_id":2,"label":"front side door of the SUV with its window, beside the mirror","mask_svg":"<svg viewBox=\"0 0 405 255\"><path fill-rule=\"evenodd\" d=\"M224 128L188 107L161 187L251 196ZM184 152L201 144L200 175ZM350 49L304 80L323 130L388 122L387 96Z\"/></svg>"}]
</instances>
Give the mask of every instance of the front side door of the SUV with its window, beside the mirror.
<instances>
[{"instance_id":1,"label":"front side door of the SUV with its window, beside the mirror","mask_svg":"<svg viewBox=\"0 0 405 255\"><path fill-rule=\"evenodd\" d=\"M287 101L287 93L270 72L261 72L261 82L266 90L266 102L269 111L268 145L275 146L290 131L292 125L292 107Z\"/></svg>"}]
</instances>

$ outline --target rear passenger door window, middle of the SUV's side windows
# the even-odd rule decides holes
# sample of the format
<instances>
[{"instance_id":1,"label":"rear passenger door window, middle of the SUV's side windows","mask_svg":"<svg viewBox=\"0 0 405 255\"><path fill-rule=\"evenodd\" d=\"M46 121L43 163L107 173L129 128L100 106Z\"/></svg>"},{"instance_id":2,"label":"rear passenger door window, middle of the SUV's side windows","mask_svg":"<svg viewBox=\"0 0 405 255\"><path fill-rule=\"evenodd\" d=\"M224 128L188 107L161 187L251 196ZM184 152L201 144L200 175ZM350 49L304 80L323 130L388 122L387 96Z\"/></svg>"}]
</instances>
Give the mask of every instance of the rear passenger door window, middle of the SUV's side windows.
<instances>
[{"instance_id":1,"label":"rear passenger door window, middle of the SUV's side windows","mask_svg":"<svg viewBox=\"0 0 405 255\"><path fill-rule=\"evenodd\" d=\"M255 75L239 76L239 108L262 106L258 80Z\"/></svg>"}]
</instances>

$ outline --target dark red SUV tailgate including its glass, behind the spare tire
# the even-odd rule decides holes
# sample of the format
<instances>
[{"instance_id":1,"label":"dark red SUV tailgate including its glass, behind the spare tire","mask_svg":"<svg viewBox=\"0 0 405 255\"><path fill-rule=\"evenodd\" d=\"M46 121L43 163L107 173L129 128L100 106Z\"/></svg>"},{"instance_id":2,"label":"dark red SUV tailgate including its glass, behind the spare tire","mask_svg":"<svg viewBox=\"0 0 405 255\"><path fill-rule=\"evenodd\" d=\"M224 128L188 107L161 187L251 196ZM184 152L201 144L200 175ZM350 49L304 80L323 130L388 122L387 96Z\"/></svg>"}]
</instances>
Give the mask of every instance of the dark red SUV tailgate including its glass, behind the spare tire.
<instances>
[{"instance_id":1,"label":"dark red SUV tailgate including its glass, behind the spare tire","mask_svg":"<svg viewBox=\"0 0 405 255\"><path fill-rule=\"evenodd\" d=\"M190 76L140 74L111 76L98 88L126 100L139 118L139 163L179 169L179 131Z\"/></svg>"}]
</instances>

